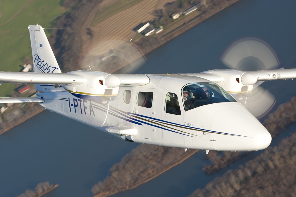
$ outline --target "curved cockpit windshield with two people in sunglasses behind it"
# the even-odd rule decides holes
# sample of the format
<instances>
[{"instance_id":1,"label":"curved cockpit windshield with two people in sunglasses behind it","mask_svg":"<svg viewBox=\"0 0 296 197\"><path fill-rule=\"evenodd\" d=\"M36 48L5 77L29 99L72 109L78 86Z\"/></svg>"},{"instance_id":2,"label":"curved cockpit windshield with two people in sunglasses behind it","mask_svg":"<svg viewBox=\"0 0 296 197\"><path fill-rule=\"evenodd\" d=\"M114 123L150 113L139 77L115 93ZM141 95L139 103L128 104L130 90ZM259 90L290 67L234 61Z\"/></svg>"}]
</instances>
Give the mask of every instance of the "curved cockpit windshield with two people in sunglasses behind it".
<instances>
[{"instance_id":1,"label":"curved cockpit windshield with two people in sunglasses behind it","mask_svg":"<svg viewBox=\"0 0 296 197\"><path fill-rule=\"evenodd\" d=\"M218 102L237 102L215 83L191 83L182 89L185 111Z\"/></svg>"}]
</instances>

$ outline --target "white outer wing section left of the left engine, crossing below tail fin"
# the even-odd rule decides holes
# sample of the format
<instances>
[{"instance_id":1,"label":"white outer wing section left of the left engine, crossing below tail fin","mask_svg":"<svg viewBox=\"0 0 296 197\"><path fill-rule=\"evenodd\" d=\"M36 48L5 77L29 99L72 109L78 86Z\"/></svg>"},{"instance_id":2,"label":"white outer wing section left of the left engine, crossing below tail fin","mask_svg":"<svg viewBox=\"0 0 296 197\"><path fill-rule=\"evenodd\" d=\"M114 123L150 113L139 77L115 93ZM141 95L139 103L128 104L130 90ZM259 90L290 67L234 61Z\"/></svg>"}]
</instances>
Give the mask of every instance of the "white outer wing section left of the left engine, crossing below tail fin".
<instances>
[{"instance_id":1,"label":"white outer wing section left of the left engine, crossing below tail fin","mask_svg":"<svg viewBox=\"0 0 296 197\"><path fill-rule=\"evenodd\" d=\"M0 82L12 84L74 84L83 83L83 76L68 73L0 72Z\"/></svg>"}]
</instances>

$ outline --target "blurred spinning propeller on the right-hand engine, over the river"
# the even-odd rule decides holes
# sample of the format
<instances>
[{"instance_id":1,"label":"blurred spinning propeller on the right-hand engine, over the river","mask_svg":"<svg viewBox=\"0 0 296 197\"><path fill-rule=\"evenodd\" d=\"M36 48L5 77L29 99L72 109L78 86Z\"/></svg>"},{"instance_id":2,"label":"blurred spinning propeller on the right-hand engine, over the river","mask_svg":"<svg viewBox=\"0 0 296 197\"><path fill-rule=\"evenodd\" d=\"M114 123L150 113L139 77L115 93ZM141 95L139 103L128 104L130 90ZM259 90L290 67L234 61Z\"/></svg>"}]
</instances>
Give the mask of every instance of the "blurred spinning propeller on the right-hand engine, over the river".
<instances>
[{"instance_id":1,"label":"blurred spinning propeller on the right-hand engine, over the river","mask_svg":"<svg viewBox=\"0 0 296 197\"><path fill-rule=\"evenodd\" d=\"M229 69L256 71L279 69L275 52L265 42L257 38L243 38L232 43L221 56L221 62ZM231 94L256 118L265 116L274 106L275 97L256 82L252 92Z\"/></svg>"}]
</instances>

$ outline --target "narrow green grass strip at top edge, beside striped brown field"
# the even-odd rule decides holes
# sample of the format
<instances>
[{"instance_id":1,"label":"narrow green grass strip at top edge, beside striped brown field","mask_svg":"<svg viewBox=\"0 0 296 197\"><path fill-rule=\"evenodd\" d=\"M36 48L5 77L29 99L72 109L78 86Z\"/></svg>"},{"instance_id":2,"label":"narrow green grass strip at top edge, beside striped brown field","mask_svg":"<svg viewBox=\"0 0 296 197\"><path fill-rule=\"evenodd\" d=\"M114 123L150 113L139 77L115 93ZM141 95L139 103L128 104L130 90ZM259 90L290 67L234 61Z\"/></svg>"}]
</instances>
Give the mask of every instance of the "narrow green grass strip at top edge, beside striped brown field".
<instances>
[{"instance_id":1,"label":"narrow green grass strip at top edge, beside striped brown field","mask_svg":"<svg viewBox=\"0 0 296 197\"><path fill-rule=\"evenodd\" d=\"M113 3L113 4L105 7L104 9L100 10L96 14L93 21L91 22L91 26L94 27L95 25L106 20L107 18L138 4L140 1L142 1L142 0L119 1L119 2Z\"/></svg>"}]
</instances>

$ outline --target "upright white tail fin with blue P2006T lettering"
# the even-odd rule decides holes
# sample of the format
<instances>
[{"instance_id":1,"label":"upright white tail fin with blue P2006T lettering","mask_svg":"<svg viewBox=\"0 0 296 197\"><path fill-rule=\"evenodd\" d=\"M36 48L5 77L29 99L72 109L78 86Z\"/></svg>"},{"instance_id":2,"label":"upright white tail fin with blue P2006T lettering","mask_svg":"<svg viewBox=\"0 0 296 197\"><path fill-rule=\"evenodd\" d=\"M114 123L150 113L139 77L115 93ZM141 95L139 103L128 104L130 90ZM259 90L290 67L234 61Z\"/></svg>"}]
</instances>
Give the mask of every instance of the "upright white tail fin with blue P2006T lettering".
<instances>
[{"instance_id":1,"label":"upright white tail fin with blue P2006T lettering","mask_svg":"<svg viewBox=\"0 0 296 197\"><path fill-rule=\"evenodd\" d=\"M34 72L62 73L43 28L37 24L29 25L28 29L31 39Z\"/></svg>"}]
</instances>

